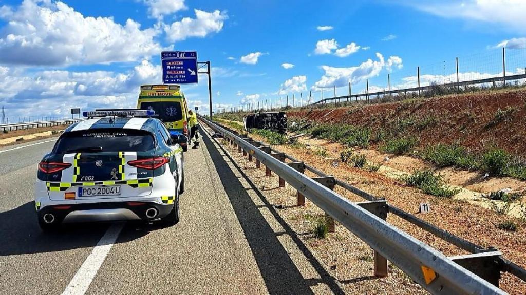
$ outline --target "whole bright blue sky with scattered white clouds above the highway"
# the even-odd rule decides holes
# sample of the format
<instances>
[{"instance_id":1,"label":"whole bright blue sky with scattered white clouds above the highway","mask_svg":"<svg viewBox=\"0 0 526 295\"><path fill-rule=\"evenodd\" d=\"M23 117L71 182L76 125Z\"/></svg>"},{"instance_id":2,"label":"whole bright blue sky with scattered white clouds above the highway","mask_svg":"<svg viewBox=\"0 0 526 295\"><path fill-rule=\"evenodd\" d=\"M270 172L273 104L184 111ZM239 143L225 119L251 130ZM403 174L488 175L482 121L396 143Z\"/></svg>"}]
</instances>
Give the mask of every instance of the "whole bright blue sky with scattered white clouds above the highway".
<instances>
[{"instance_id":1,"label":"whole bright blue sky with scattered white clouds above the highway","mask_svg":"<svg viewBox=\"0 0 526 295\"><path fill-rule=\"evenodd\" d=\"M400 4L403 3L403 4ZM133 107L160 83L161 50L210 60L214 108L313 91L313 99L526 66L526 2L0 0L0 104L12 117ZM285 65L284 65L285 64ZM294 65L294 66L292 66ZM183 89L207 110L206 76ZM424 82L423 81L423 82ZM12 119L13 120L13 119Z\"/></svg>"}]
</instances>

